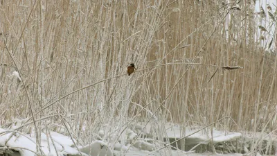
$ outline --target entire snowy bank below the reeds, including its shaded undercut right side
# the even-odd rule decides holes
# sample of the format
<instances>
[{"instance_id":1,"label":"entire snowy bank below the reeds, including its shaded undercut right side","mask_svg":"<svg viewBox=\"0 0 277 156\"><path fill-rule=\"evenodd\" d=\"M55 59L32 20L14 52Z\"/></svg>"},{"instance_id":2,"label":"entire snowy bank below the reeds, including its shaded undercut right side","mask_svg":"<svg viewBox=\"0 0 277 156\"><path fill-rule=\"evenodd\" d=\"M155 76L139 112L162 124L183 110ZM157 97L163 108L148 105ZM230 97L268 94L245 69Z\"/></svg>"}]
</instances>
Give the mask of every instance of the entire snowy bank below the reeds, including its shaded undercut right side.
<instances>
[{"instance_id":1,"label":"entire snowy bank below the reeds, including its shaded undercut right side","mask_svg":"<svg viewBox=\"0 0 277 156\"><path fill-rule=\"evenodd\" d=\"M159 134L156 131L159 125L134 124L125 130L126 140L120 141L114 136L114 133L99 131L99 140L94 140L87 146L80 146L75 139L62 135L58 132L50 132L46 135L42 132L40 136L39 152L37 152L37 142L34 132L24 134L24 132L8 130L8 128L0 128L0 155L1 153L12 153L18 151L16 156L35 156L35 155L99 155L99 156L119 156L119 155L191 155L197 156L197 153L204 153L208 150L208 146L213 145L217 153L249 153L253 148L259 146L260 142L273 142L273 148L267 150L258 150L262 153L274 153L276 149L276 136L274 134L258 134L253 133L243 135L239 132L226 132L211 128L186 128L181 129L181 125L173 125L166 123L162 125L164 133ZM15 126L17 127L17 126ZM14 128L12 128L14 129ZM15 129L14 129L15 130ZM25 131L26 133L26 131ZM143 134L143 135L141 135ZM251 135L252 134L252 135ZM157 135L161 135L157 139ZM139 137L140 136L140 137ZM146 137L143 137L146 136ZM181 140L186 138L184 150L181 148ZM161 141L163 139L163 141ZM253 139L256 142L253 142ZM213 143L213 144L210 144ZM77 147L76 147L77 145ZM166 148L170 146L171 148ZM197 148L202 148L197 150ZM12 150L11 150L12 149ZM195 151L197 153L195 153ZM40 154L42 153L42 154ZM15 153L12 154L14 156ZM201 155L201 154L200 154ZM208 153L207 155L211 155ZM231 154L235 155L235 154ZM236 154L240 155L240 154Z\"/></svg>"}]
</instances>

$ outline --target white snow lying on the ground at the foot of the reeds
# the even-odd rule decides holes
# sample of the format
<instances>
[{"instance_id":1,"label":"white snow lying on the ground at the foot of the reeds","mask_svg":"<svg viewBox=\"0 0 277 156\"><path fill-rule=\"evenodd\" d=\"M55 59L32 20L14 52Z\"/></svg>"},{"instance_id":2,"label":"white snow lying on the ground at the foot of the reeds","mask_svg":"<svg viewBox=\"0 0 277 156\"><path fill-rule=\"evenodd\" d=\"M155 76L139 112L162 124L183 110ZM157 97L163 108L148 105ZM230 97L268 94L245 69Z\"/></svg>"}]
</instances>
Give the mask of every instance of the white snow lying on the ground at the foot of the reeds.
<instances>
[{"instance_id":1,"label":"white snow lying on the ground at the foot of the reeds","mask_svg":"<svg viewBox=\"0 0 277 156\"><path fill-rule=\"evenodd\" d=\"M142 126L142 125L141 125ZM170 123L166 123L166 136L168 138L179 139L183 134L181 126L172 125ZM140 129L140 126L136 126ZM148 135L151 133L152 127L151 125L146 126L146 133ZM132 131L127 129L127 134L131 136L131 139L136 139L136 131ZM200 129L200 128L186 128L186 144L208 144L211 139L211 130L209 129ZM226 143L228 141L234 141L242 137L242 134L238 132L223 132L220 130L213 130L213 143ZM245 136L244 136L245 137ZM253 137L253 136L252 136ZM257 136L256 136L257 137ZM274 139L273 136L265 135L264 138ZM249 139L251 135L249 135ZM149 139L149 138L148 138ZM147 138L137 139L131 144L120 145L119 141L116 144L109 144L105 140L95 140L88 144L87 146L75 146L77 142L75 139L71 139L69 136L62 135L57 132L50 132L50 135L46 135L42 132L41 135L41 146L40 149L42 151L42 155L50 156L50 155L127 155L127 156L135 156L135 155L188 155L188 156L200 156L200 155L217 155L217 156L242 156L242 154L231 153L231 154L220 154L217 150L216 154L213 153L195 153L195 150L185 152L183 150L179 150L175 148L172 150L171 148L166 148L166 143L163 144L152 144L151 141L147 141ZM0 128L0 152L1 150L13 149L19 151L21 156L33 156L36 155L36 137L34 132L30 134L23 134L23 132L7 130ZM223 152L222 152L223 153ZM259 155L257 153L256 155Z\"/></svg>"}]
</instances>

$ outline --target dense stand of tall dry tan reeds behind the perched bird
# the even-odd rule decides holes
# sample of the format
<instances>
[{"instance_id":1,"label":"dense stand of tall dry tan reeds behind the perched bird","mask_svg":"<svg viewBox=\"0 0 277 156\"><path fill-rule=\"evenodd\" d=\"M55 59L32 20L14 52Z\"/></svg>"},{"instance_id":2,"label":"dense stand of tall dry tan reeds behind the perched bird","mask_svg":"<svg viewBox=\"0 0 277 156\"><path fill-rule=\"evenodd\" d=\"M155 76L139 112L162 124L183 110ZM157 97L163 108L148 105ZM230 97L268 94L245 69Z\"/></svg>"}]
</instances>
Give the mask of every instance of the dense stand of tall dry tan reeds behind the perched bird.
<instances>
[{"instance_id":1,"label":"dense stand of tall dry tan reeds behind the perched bird","mask_svg":"<svg viewBox=\"0 0 277 156\"><path fill-rule=\"evenodd\" d=\"M1 1L1 124L33 112L38 132L66 125L81 144L102 129L123 140L131 119L186 127L231 116L214 126L275 130L276 55L257 37L269 38L258 29L264 19L253 1L233 6ZM131 62L138 71L127 76Z\"/></svg>"}]
</instances>

